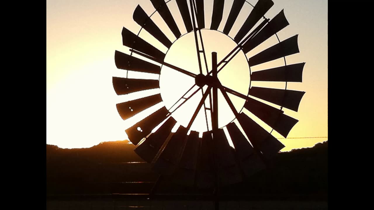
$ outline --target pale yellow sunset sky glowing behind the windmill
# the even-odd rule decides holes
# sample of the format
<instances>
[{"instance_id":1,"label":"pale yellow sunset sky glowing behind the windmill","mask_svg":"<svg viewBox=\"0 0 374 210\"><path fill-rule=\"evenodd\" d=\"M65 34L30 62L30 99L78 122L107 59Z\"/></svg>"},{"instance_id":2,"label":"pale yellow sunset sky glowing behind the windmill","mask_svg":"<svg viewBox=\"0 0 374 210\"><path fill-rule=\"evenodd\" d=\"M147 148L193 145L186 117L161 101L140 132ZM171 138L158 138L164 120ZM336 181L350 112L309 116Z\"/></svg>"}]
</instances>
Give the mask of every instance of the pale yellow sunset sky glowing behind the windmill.
<instances>
[{"instance_id":1,"label":"pale yellow sunset sky glowing behind the windmill","mask_svg":"<svg viewBox=\"0 0 374 210\"><path fill-rule=\"evenodd\" d=\"M287 56L287 64L306 62L303 71L303 82L288 83L287 89L305 91L306 93L301 100L298 112L283 109L285 114L299 120L287 139L284 139L276 132L272 134L286 146L282 151L311 147L318 142L327 140L327 138L304 137L328 136L327 0L273 1L274 6L265 16L272 19L284 9L285 16L290 23L290 25L277 33L279 39L282 41L298 34L300 53ZM206 0L205 2L207 4L205 22L206 27L209 27L213 0ZM223 19L218 28L220 31L224 27L232 2L233 0L225 1ZM248 2L255 5L257 0L249 0ZM137 96L117 96L113 89L112 77L126 77L125 70L116 68L114 52L118 50L126 54L130 53L129 48L122 45L121 32L123 27L128 28L135 34L140 30L140 26L132 19L133 12L138 4L148 15L154 12L153 5L149 0L47 0L47 144L58 145L61 148L86 148L97 145L100 142L128 139L125 129L136 123L138 119L122 120L117 112L116 104L136 99ZM174 0L169 4L172 6L176 5ZM175 20L181 33L184 34L186 33L186 28L184 28L180 13L178 10L172 9L172 6L171 12L173 16L177 16ZM251 9L252 7L249 4L245 4L229 35L236 34ZM173 37L171 31L157 13L152 16L152 19L167 37L170 37L170 39ZM181 38L187 39L187 35ZM155 41L146 32L140 34L140 36L158 47L162 52L166 52L167 48L157 43L157 40ZM206 34L206 36L209 36L209 34ZM225 38L220 38L221 44L225 46L225 49L227 48L226 50L230 51L232 49L230 41L232 40L229 38L225 40ZM175 37L171 40L174 41ZM276 43L278 41L273 36L258 46L258 48L247 53L246 56L249 58ZM175 46L177 44L178 41L175 42ZM175 59L179 59L177 55L188 51L186 50L188 46L183 47L183 43L180 44L180 47L174 47L174 45L171 47L170 52L174 51L166 55L166 62L173 62ZM210 45L209 41L207 41L206 45L208 49L216 49L215 47L217 47L213 41ZM181 47L184 49L183 52L178 51ZM187 54L183 57L189 58ZM218 60L220 60L219 58L220 55L218 55ZM183 64L182 61L180 62ZM271 65L277 66L279 64L277 62L258 65L253 69L251 68L251 70L257 71L272 68L273 66ZM190 64L190 66L185 68L186 70L194 71L196 70L194 65L197 66L197 63ZM239 69L239 64L237 65ZM162 70L164 70L162 72L167 71L165 68L162 68ZM242 72L244 72L242 81L235 80L232 83L234 86L249 82L249 72L248 77L245 76L246 70L244 67ZM137 75L134 76L137 77ZM152 77L152 75L148 76ZM166 76L161 74L160 85L165 84L162 83L162 77ZM225 73L222 71L220 77L226 78L227 83L230 83L230 74L227 71ZM186 85L188 86L187 82ZM261 85L263 87L284 88L284 84L283 86L279 86L279 84L269 84L268 86L257 82L257 86ZM240 87L238 86L237 88L239 91ZM148 95L155 93L159 92L157 90L147 92ZM172 93L170 94L172 95ZM201 93L199 96L201 98ZM197 102L199 101L198 98L196 100ZM240 104L240 100L237 103ZM194 126L196 129L201 127L199 124Z\"/></svg>"}]
</instances>

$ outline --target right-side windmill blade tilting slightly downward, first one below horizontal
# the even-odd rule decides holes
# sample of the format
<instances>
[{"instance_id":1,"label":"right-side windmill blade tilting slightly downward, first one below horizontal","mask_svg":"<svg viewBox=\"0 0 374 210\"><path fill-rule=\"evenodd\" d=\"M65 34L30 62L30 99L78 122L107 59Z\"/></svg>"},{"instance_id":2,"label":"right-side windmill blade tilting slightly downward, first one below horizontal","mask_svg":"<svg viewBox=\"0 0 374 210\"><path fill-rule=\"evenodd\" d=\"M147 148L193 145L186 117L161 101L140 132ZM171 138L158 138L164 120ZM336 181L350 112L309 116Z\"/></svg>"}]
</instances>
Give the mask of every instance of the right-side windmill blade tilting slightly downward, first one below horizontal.
<instances>
[{"instance_id":1,"label":"right-side windmill blade tilting slightly downward, first one below horizontal","mask_svg":"<svg viewBox=\"0 0 374 210\"><path fill-rule=\"evenodd\" d=\"M251 87L248 93L251 96L255 96L297 112L301 98L303 98L305 92L265 87Z\"/></svg>"}]
</instances>

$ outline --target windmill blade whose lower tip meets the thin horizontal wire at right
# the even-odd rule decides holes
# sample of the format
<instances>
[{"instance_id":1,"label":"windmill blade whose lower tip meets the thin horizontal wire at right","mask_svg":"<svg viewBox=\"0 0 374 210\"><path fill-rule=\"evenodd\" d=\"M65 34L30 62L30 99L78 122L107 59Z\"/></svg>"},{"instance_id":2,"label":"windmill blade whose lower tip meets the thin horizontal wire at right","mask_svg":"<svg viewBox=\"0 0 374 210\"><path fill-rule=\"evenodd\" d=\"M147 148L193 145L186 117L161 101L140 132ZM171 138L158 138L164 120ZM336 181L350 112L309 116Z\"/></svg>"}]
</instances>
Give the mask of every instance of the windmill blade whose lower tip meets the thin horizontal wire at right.
<instances>
[{"instance_id":1,"label":"windmill blade whose lower tip meets the thin horizontal wire at right","mask_svg":"<svg viewBox=\"0 0 374 210\"><path fill-rule=\"evenodd\" d=\"M255 99L249 98L244 104L248 111L252 112L285 138L298 120L283 114L282 110L276 109Z\"/></svg>"}]
</instances>

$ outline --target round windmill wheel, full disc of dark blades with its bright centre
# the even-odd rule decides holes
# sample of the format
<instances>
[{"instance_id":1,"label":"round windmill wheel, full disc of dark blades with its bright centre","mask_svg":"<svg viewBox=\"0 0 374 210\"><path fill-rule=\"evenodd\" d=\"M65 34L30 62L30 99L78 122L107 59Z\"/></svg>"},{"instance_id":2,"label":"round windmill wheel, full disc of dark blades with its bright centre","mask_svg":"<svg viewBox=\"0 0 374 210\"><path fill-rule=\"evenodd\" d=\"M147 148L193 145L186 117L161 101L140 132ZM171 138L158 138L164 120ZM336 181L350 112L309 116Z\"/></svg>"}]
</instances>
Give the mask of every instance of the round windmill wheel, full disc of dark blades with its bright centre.
<instances>
[{"instance_id":1,"label":"round windmill wheel, full disc of dark blades with its bright centre","mask_svg":"<svg viewBox=\"0 0 374 210\"><path fill-rule=\"evenodd\" d=\"M274 4L271 0L258 0L255 5L233 0L226 22L222 21L226 1L214 0L211 6L202 0L175 0L178 9L172 11L180 12L187 32L182 34L184 28L178 27L169 2L151 0L154 13L168 27L164 31L151 18L154 13L148 16L140 5L133 15L142 27L139 33L122 30L123 45L131 48L131 53L115 52L117 68L159 77L113 77L117 95L149 89L159 89L160 93L117 104L119 114L126 120L157 104L164 105L126 133L136 145L135 152L174 181L200 187L211 187L215 180L222 184L240 182L263 169L284 147L272 135L273 130L286 138L298 121L282 110L298 111L305 93L287 89L287 83L302 81L305 63L286 64L285 59L299 52L297 35L279 40L276 33L289 23L283 10L272 19L264 16ZM212 7L210 26L205 24L208 7ZM251 12L240 29L234 30L245 7ZM143 29L166 52L141 38ZM170 30L169 35L166 30ZM277 43L258 51L271 37L276 37ZM230 44L222 43L231 43L232 48L227 50ZM253 53L256 50L258 53ZM251 53L254 55L247 58ZM274 61L278 61L277 66L265 68L264 64ZM238 72L240 69L245 71ZM270 83L284 88L262 87Z\"/></svg>"}]
</instances>

